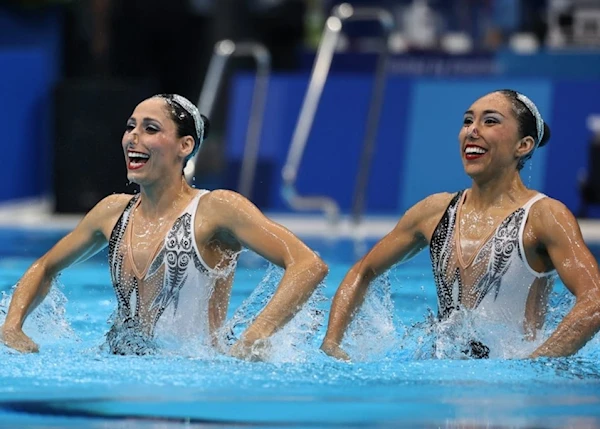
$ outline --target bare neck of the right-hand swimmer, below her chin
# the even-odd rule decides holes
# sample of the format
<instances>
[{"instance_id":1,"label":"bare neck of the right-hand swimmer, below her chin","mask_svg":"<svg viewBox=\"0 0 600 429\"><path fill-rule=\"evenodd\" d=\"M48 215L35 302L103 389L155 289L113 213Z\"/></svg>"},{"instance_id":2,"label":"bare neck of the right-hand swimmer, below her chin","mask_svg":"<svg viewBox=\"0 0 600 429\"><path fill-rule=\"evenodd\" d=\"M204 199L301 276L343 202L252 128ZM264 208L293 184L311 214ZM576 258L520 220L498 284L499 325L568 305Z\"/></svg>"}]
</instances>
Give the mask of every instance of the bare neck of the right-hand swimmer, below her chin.
<instances>
[{"instance_id":1,"label":"bare neck of the right-hand swimmer, below her chin","mask_svg":"<svg viewBox=\"0 0 600 429\"><path fill-rule=\"evenodd\" d=\"M517 173L510 178L496 180L473 180L466 198L469 206L475 210L486 210L490 207L501 207L505 204L517 202L523 193L529 190L523 184L521 176Z\"/></svg>"}]
</instances>

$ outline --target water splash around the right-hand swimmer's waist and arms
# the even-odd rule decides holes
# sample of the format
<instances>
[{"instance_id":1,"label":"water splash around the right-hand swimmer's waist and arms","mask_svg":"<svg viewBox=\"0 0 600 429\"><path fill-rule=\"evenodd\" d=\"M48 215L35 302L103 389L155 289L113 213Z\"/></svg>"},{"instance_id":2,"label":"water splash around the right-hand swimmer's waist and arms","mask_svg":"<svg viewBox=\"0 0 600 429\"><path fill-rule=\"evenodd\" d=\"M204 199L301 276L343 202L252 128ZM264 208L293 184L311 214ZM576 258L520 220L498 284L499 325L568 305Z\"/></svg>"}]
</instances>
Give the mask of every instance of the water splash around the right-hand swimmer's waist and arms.
<instances>
[{"instance_id":1,"label":"water splash around the right-hand swimmer's waist and arms","mask_svg":"<svg viewBox=\"0 0 600 429\"><path fill-rule=\"evenodd\" d=\"M382 277L371 285L342 342L352 361L526 359L574 304L568 291L557 287L550 294L546 322L533 339L528 339L522 332L513 332L485 313L471 309L457 310L440 321L435 309L428 307L422 319L404 320L402 314L394 313L389 279ZM594 339L574 359L599 356L600 340Z\"/></svg>"}]
</instances>

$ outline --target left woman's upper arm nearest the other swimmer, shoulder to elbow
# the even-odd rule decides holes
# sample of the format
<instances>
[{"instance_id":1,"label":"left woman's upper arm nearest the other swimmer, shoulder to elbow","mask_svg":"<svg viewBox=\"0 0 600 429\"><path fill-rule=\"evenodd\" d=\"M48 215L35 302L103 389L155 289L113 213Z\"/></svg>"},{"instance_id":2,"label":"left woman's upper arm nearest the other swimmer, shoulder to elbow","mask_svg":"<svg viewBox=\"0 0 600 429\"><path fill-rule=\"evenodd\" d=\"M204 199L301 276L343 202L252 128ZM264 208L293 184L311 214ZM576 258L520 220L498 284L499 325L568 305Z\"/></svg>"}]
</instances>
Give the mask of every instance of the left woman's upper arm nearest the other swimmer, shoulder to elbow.
<instances>
[{"instance_id":1,"label":"left woman's upper arm nearest the other swimmer, shoulder to elbow","mask_svg":"<svg viewBox=\"0 0 600 429\"><path fill-rule=\"evenodd\" d=\"M317 255L287 228L267 218L242 195L227 191L212 191L203 197L215 232L226 230L242 245L270 262L287 267L307 258L320 262Z\"/></svg>"}]
</instances>

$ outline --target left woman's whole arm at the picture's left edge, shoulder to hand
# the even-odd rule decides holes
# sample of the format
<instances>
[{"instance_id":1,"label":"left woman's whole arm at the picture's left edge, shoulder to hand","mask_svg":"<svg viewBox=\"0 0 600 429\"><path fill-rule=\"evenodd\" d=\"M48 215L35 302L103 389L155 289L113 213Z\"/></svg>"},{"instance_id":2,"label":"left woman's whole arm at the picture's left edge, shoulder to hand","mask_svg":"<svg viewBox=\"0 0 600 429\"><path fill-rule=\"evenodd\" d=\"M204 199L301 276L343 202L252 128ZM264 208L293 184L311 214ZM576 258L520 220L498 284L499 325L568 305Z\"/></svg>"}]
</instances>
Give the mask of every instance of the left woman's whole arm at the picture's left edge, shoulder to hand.
<instances>
[{"instance_id":1,"label":"left woman's whole arm at the picture's left edge, shoulder to hand","mask_svg":"<svg viewBox=\"0 0 600 429\"><path fill-rule=\"evenodd\" d=\"M130 198L130 195L111 195L99 202L72 232L31 265L13 293L0 329L4 344L20 352L38 351L37 344L23 333L27 316L48 294L56 275L106 246L112 227Z\"/></svg>"}]
</instances>

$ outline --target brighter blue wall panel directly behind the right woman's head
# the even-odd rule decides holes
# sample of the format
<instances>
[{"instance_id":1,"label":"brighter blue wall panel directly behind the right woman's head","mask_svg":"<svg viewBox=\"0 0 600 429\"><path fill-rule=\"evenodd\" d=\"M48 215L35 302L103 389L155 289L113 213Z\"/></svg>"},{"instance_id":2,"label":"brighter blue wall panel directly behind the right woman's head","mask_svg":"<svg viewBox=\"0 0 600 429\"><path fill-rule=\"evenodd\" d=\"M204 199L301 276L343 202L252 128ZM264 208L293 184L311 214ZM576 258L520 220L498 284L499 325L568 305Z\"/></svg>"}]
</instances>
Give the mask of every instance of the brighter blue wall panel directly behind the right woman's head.
<instances>
[{"instance_id":1,"label":"brighter blue wall panel directly behind the right woman's head","mask_svg":"<svg viewBox=\"0 0 600 429\"><path fill-rule=\"evenodd\" d=\"M465 110L479 97L496 89L511 88L535 100L547 118L551 86L546 81L477 79L476 81L416 81L410 105L407 150L400 169L402 191L398 208L405 211L415 202L436 192L455 192L470 186L459 153L458 132ZM543 187L546 152L532 158L523 179L533 188Z\"/></svg>"}]
</instances>

